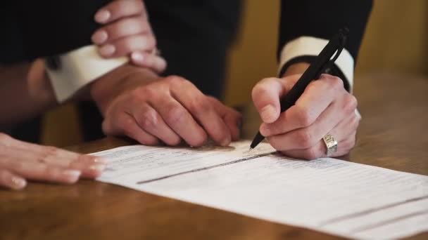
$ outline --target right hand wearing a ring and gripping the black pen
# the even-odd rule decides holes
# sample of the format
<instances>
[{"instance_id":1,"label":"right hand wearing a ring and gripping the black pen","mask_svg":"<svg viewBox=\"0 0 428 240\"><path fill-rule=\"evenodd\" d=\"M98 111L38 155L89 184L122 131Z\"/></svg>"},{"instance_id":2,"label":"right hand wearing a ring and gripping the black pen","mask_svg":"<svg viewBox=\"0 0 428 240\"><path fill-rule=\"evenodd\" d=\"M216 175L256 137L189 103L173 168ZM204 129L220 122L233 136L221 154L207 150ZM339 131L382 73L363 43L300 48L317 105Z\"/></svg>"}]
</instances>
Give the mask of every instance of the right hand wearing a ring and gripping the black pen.
<instances>
[{"instance_id":1,"label":"right hand wearing a ring and gripping the black pen","mask_svg":"<svg viewBox=\"0 0 428 240\"><path fill-rule=\"evenodd\" d=\"M360 121L356 98L345 90L341 79L322 74L294 106L281 113L279 98L300 76L263 79L253 88L253 102L263 120L260 133L279 152L299 159L348 154Z\"/></svg>"}]
</instances>

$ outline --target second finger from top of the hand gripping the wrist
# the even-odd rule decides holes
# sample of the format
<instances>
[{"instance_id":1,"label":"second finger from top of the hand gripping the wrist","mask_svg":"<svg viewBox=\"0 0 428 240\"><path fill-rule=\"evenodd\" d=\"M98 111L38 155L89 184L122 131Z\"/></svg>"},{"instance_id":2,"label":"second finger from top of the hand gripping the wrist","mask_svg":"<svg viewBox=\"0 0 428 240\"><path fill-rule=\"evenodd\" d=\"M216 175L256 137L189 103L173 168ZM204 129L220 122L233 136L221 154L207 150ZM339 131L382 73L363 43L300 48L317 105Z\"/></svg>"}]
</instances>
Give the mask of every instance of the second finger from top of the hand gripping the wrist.
<instances>
[{"instance_id":1,"label":"second finger from top of the hand gripping the wrist","mask_svg":"<svg viewBox=\"0 0 428 240\"><path fill-rule=\"evenodd\" d=\"M152 34L149 22L141 15L133 18L121 19L101 27L92 35L92 41L94 44L101 45L113 43L115 40L137 34Z\"/></svg>"}]
</instances>

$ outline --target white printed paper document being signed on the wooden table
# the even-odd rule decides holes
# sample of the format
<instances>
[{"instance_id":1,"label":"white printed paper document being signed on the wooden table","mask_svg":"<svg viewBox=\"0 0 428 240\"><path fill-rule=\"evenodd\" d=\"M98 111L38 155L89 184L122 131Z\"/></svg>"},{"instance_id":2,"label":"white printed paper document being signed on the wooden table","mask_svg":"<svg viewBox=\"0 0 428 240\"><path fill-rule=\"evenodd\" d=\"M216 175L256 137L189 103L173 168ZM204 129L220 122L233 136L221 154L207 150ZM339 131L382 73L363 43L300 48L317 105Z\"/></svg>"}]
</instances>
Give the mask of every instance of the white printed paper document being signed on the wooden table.
<instances>
[{"instance_id":1,"label":"white printed paper document being signed on the wooden table","mask_svg":"<svg viewBox=\"0 0 428 240\"><path fill-rule=\"evenodd\" d=\"M109 162L97 180L356 239L428 231L428 176L339 159L289 159L266 143L247 152L249 143L97 152Z\"/></svg>"}]
</instances>

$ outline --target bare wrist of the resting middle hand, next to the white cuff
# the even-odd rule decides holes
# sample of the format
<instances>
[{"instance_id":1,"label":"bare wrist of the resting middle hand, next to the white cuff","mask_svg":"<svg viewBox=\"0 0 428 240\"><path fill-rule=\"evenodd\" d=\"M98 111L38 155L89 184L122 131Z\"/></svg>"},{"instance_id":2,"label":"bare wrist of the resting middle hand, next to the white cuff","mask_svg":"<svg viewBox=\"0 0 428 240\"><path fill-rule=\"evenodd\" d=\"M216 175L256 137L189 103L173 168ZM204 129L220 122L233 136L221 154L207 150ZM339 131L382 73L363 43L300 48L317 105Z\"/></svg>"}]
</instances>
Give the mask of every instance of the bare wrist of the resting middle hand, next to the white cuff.
<instances>
[{"instance_id":1,"label":"bare wrist of the resting middle hand, next to the white cuff","mask_svg":"<svg viewBox=\"0 0 428 240\"><path fill-rule=\"evenodd\" d=\"M138 75L137 77L134 77ZM149 69L122 65L96 79L89 85L92 100L96 102L102 114L118 95L125 94L137 86L156 81L159 76Z\"/></svg>"}]
</instances>

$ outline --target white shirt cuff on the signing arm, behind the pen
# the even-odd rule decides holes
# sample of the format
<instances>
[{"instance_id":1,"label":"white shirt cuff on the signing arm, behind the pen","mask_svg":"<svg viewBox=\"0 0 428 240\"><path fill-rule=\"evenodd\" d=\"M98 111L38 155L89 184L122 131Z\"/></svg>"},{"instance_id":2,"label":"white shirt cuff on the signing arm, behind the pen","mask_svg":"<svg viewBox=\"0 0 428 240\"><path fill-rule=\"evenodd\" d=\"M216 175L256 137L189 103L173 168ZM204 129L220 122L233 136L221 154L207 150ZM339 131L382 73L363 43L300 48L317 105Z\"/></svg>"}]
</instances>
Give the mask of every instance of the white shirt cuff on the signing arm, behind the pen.
<instances>
[{"instance_id":1,"label":"white shirt cuff on the signing arm, behind the pen","mask_svg":"<svg viewBox=\"0 0 428 240\"><path fill-rule=\"evenodd\" d=\"M282 48L279 60L279 70L293 58L303 55L317 56L328 42L329 41L326 39L318 39L313 36L301 36L289 41L284 48ZM339 67L341 72L344 73L352 90L354 61L351 53L344 49L334 64Z\"/></svg>"}]
</instances>

